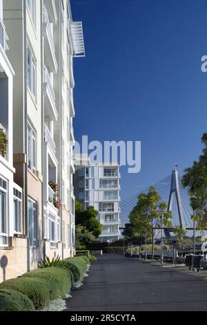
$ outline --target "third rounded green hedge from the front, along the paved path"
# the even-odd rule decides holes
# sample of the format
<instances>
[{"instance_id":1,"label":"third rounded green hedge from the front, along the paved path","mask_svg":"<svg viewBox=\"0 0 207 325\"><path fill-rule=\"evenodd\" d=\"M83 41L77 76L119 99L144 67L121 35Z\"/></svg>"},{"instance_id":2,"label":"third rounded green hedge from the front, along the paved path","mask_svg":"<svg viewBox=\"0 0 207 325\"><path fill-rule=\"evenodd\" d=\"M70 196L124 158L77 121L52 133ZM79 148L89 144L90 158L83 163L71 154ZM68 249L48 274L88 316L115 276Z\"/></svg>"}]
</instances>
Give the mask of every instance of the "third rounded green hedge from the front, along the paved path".
<instances>
[{"instance_id":1,"label":"third rounded green hedge from the front, along the paved path","mask_svg":"<svg viewBox=\"0 0 207 325\"><path fill-rule=\"evenodd\" d=\"M47 282L50 299L64 297L72 286L71 275L68 270L59 267L40 268L27 272L23 277L43 279Z\"/></svg>"}]
</instances>

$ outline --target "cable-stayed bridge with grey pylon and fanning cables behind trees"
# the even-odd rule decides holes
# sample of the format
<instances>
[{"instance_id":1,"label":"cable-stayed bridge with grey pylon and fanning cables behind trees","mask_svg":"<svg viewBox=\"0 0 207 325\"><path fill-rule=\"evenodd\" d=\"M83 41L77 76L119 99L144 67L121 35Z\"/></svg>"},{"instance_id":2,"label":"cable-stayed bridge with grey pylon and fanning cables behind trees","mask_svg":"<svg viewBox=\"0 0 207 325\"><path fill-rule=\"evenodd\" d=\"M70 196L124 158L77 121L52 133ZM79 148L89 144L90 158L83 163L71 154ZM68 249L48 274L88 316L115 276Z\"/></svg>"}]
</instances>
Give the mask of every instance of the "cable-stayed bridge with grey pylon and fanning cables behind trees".
<instances>
[{"instance_id":1,"label":"cable-stayed bridge with grey pylon and fanning cables behind trees","mask_svg":"<svg viewBox=\"0 0 207 325\"><path fill-rule=\"evenodd\" d=\"M173 227L180 227L186 230L193 230L193 210L190 207L190 198L188 196L188 188L184 188L181 184L181 177L178 175L177 170L173 170L172 174L166 178L159 180L155 187L161 201L165 201L168 205L168 210L172 212L172 225ZM136 194L121 201L121 224L129 223L129 215L133 207L137 203L137 198L140 193L147 193L149 187L142 189ZM165 231L166 236L168 231Z\"/></svg>"}]
</instances>

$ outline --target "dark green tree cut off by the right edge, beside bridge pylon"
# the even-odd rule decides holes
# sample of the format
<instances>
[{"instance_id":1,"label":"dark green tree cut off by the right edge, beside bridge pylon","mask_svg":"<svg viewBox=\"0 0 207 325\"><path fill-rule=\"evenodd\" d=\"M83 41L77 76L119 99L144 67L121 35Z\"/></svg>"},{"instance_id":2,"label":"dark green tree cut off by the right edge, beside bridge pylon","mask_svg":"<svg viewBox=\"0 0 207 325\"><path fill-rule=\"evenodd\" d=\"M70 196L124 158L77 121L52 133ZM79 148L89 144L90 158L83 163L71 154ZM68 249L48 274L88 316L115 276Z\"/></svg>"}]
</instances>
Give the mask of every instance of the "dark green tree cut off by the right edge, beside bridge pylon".
<instances>
[{"instance_id":1,"label":"dark green tree cut off by the right edge, beside bridge pylon","mask_svg":"<svg viewBox=\"0 0 207 325\"><path fill-rule=\"evenodd\" d=\"M190 205L194 211L192 219L198 229L204 229L207 225L207 133L204 133L201 142L204 144L203 154L192 167L184 170L182 177L183 186L188 187Z\"/></svg>"}]
</instances>

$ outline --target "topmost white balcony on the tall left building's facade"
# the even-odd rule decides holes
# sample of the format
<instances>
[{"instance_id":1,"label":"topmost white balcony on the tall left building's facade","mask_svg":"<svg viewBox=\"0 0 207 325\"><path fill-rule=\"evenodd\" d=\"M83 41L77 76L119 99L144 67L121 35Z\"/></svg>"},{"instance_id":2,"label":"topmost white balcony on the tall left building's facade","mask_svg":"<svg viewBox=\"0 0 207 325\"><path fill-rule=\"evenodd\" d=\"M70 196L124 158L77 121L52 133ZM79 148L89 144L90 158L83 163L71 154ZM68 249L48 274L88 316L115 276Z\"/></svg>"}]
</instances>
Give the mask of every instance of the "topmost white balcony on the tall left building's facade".
<instances>
[{"instance_id":1,"label":"topmost white balcony on the tall left building's facade","mask_svg":"<svg viewBox=\"0 0 207 325\"><path fill-rule=\"evenodd\" d=\"M50 23L46 6L43 7L43 35L46 65L50 71L57 73L57 59L55 57L55 43L53 39L53 24Z\"/></svg>"}]
</instances>

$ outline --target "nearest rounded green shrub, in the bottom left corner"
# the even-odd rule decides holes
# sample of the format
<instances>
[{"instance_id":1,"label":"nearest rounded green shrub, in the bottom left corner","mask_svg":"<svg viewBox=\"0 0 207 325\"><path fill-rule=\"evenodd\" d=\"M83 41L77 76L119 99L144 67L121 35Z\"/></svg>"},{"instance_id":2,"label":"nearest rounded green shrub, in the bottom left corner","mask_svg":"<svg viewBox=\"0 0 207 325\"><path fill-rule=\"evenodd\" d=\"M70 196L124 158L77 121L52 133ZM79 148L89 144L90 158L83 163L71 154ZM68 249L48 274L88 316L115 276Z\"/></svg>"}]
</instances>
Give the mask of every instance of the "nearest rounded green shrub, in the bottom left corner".
<instances>
[{"instance_id":1,"label":"nearest rounded green shrub, in the bottom left corner","mask_svg":"<svg viewBox=\"0 0 207 325\"><path fill-rule=\"evenodd\" d=\"M0 311L34 311L32 301L15 290L0 289Z\"/></svg>"}]
</instances>

